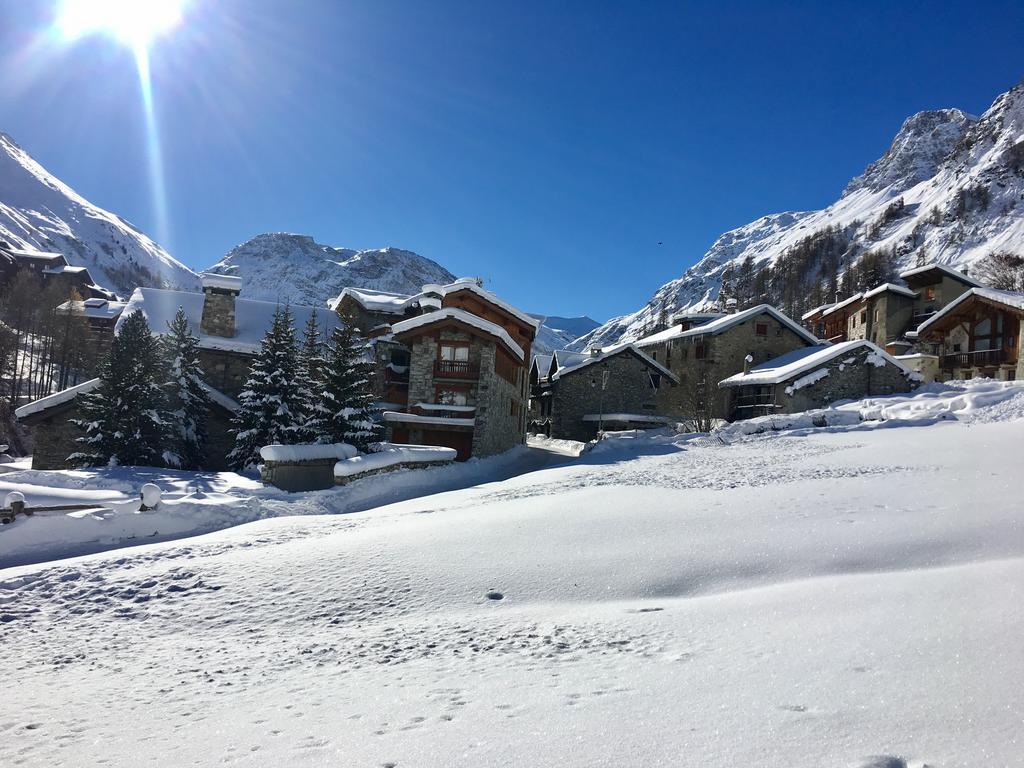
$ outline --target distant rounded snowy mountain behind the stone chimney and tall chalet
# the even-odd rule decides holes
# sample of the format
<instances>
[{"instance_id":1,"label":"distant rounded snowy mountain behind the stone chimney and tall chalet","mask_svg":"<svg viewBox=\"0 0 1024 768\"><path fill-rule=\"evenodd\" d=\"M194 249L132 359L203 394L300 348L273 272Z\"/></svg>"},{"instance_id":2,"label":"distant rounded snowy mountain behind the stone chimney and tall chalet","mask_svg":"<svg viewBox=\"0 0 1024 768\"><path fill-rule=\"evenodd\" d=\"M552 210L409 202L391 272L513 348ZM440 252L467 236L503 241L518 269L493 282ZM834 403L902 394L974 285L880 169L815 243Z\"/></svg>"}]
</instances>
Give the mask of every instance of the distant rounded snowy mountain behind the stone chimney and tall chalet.
<instances>
[{"instance_id":1,"label":"distant rounded snowy mountain behind the stone chimney and tall chalet","mask_svg":"<svg viewBox=\"0 0 1024 768\"><path fill-rule=\"evenodd\" d=\"M265 232L232 248L207 271L242 278L250 299L323 305L346 286L417 293L456 279L436 261L399 248L355 251L306 234Z\"/></svg>"}]
</instances>

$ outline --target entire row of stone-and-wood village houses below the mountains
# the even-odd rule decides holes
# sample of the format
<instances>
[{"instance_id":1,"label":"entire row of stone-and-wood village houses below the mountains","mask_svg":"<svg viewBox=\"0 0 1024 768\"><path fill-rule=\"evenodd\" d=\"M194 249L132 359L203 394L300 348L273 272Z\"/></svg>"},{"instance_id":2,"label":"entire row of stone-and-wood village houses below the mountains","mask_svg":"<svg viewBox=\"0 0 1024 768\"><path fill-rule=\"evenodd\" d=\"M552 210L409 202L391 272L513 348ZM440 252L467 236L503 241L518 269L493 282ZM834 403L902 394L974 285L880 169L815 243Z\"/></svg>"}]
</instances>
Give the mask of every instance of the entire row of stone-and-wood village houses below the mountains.
<instances>
[{"instance_id":1,"label":"entire row of stone-and-wood village houses below the mountains","mask_svg":"<svg viewBox=\"0 0 1024 768\"><path fill-rule=\"evenodd\" d=\"M899 278L799 322L767 304L683 312L632 343L552 354L531 352L537 319L473 279L415 295L347 288L328 307L291 310L300 325L319 312L327 331L344 316L368 339L389 441L447 446L460 460L507 451L527 432L589 440L601 430L806 411L936 379L1024 378L1024 294L984 288L940 264ZM202 293L137 289L127 302L93 294L62 310L100 337L135 310L156 333L185 310L211 393L208 453L216 469L275 306L242 292L241 280L207 274ZM35 468L65 466L77 437L76 397L92 386L17 410L35 428Z\"/></svg>"}]
</instances>

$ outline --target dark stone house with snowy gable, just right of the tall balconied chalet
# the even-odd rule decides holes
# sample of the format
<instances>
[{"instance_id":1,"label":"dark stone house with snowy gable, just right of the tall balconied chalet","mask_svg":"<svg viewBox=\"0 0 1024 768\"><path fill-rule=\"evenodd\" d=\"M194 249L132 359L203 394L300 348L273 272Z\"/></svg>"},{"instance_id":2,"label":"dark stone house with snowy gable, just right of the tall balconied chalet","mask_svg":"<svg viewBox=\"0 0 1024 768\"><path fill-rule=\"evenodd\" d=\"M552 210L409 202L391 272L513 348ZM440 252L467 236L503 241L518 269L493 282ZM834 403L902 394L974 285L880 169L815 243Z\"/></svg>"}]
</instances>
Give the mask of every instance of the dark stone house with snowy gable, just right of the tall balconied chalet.
<instances>
[{"instance_id":1,"label":"dark stone house with snowy gable, just right of the tall balconied chalet","mask_svg":"<svg viewBox=\"0 0 1024 768\"><path fill-rule=\"evenodd\" d=\"M602 429L664 426L672 420L657 412L657 394L677 381L635 344L580 354L572 365L551 367L539 378L530 431L586 441Z\"/></svg>"}]
</instances>

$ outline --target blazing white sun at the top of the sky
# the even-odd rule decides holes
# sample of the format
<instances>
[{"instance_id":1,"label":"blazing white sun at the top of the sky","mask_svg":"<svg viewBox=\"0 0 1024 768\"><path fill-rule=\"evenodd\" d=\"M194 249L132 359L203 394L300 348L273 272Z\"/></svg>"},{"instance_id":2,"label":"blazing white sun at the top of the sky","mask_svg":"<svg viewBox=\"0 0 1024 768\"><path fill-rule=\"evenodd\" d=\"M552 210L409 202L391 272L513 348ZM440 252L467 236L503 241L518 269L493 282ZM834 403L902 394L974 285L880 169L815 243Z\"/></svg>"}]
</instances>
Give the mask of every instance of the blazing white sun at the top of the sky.
<instances>
[{"instance_id":1,"label":"blazing white sun at the top of the sky","mask_svg":"<svg viewBox=\"0 0 1024 768\"><path fill-rule=\"evenodd\" d=\"M69 39L99 33L145 49L181 22L185 0L61 0L57 28Z\"/></svg>"}]
</instances>

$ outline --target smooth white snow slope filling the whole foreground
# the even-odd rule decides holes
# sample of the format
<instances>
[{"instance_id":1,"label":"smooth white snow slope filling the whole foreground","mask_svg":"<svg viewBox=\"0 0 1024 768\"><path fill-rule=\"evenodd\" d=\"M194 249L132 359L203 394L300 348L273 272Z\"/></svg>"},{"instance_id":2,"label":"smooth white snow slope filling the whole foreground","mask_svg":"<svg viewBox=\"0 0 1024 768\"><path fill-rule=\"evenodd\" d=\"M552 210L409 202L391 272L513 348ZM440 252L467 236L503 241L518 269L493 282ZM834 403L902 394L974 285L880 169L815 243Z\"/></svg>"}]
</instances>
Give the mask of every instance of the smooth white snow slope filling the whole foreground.
<instances>
[{"instance_id":1,"label":"smooth white snow slope filling the whole foreground","mask_svg":"<svg viewBox=\"0 0 1024 768\"><path fill-rule=\"evenodd\" d=\"M1022 440L604 453L0 571L0 765L1024 765Z\"/></svg>"}]
</instances>

